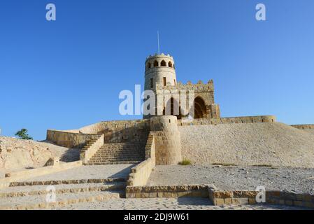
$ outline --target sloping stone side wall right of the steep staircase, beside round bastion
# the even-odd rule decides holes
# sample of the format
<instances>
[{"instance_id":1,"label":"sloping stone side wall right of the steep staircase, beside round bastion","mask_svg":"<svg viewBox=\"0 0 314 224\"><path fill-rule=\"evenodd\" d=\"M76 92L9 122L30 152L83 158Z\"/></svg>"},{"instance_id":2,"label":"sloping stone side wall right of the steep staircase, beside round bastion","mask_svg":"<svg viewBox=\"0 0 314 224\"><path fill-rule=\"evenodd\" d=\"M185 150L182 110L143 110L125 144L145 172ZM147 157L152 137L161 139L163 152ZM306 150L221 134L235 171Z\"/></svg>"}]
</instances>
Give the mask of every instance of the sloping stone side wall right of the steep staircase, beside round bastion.
<instances>
[{"instance_id":1,"label":"sloping stone side wall right of the steep staircase, beside round bastion","mask_svg":"<svg viewBox=\"0 0 314 224\"><path fill-rule=\"evenodd\" d=\"M146 160L131 169L127 186L145 186L150 178L152 169L155 167L155 137L153 134L148 136L145 153Z\"/></svg>"}]
</instances>

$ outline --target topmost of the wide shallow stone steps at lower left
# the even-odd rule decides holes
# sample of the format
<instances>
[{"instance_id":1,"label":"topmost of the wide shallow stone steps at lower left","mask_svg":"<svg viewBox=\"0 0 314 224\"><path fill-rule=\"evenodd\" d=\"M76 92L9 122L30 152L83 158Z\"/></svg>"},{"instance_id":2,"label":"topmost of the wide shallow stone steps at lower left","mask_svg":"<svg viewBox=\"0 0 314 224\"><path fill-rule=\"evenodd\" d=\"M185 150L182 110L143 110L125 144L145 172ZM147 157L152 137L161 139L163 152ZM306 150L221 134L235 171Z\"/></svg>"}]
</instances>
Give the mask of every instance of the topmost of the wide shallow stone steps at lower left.
<instances>
[{"instance_id":1,"label":"topmost of the wide shallow stone steps at lower left","mask_svg":"<svg viewBox=\"0 0 314 224\"><path fill-rule=\"evenodd\" d=\"M109 178L109 179L77 179L77 180L57 180L57 181L20 181L10 183L11 187L18 186L57 186L66 184L84 184L84 183L117 183L125 182L122 178Z\"/></svg>"}]
</instances>

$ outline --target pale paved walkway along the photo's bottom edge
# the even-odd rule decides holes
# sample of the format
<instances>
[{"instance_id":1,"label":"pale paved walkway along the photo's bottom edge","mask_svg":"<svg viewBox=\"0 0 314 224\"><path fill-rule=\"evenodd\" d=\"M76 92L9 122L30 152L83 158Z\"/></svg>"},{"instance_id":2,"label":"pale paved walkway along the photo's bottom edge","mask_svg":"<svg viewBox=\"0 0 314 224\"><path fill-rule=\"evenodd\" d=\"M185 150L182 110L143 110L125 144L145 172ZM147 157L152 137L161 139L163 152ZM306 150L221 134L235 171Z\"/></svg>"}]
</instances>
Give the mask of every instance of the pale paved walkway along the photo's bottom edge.
<instances>
[{"instance_id":1,"label":"pale paved walkway along the photo's bottom edge","mask_svg":"<svg viewBox=\"0 0 314 224\"><path fill-rule=\"evenodd\" d=\"M274 205L213 206L210 200L199 197L115 199L106 202L73 204L66 210L291 210L299 207Z\"/></svg>"}]
</instances>

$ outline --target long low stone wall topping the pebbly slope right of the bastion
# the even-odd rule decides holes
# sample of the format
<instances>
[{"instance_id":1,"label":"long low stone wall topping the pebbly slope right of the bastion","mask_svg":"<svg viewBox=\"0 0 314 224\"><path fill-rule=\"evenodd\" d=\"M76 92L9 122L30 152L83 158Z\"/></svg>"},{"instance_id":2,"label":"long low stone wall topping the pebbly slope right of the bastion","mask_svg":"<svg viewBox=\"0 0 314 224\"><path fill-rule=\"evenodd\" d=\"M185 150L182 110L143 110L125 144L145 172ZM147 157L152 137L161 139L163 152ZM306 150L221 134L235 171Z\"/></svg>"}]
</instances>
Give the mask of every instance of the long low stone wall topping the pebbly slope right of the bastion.
<instances>
[{"instance_id":1,"label":"long low stone wall topping the pebbly slope right of the bastion","mask_svg":"<svg viewBox=\"0 0 314 224\"><path fill-rule=\"evenodd\" d=\"M273 123L276 122L276 116L248 116L220 119L194 119L191 123L178 120L178 126L187 125L224 125L224 124L242 124L242 123Z\"/></svg>"}]
</instances>

